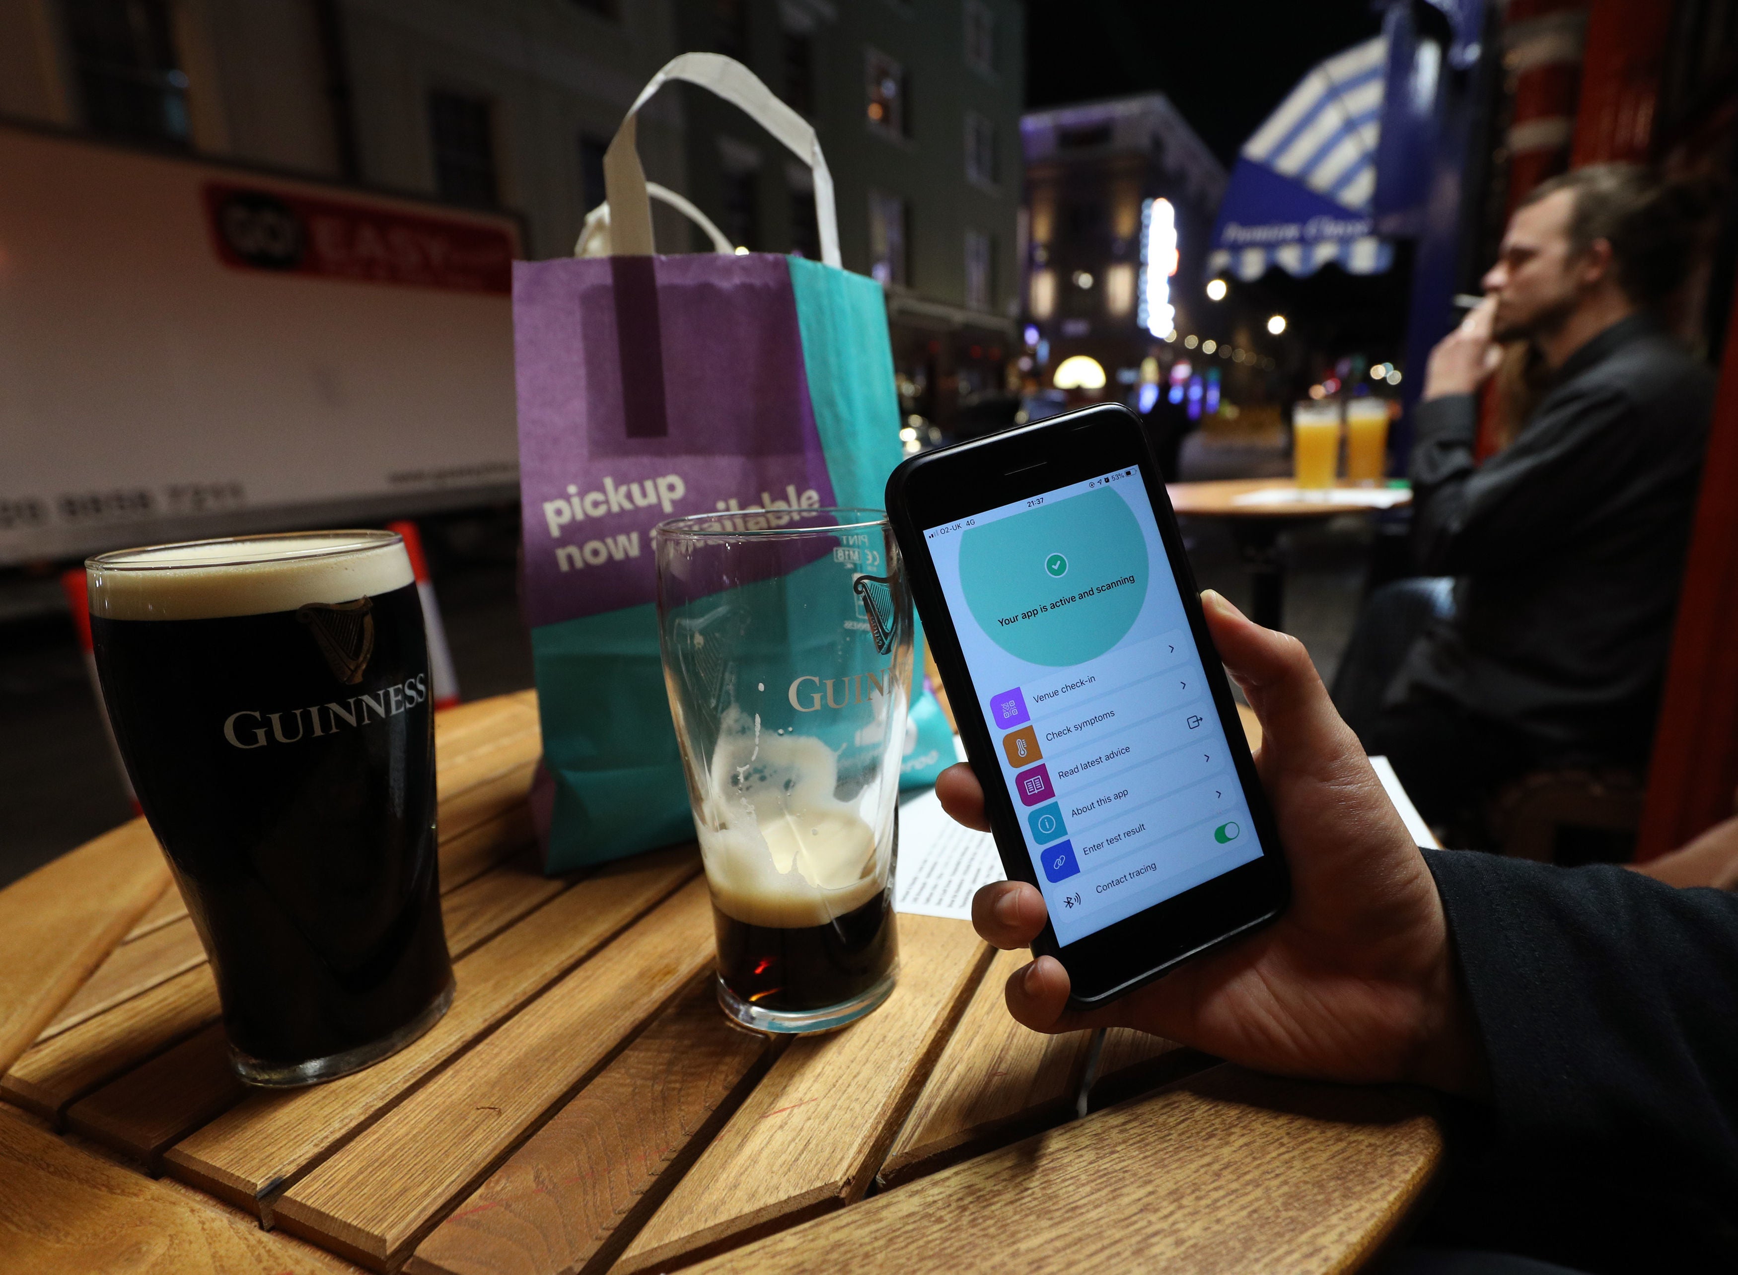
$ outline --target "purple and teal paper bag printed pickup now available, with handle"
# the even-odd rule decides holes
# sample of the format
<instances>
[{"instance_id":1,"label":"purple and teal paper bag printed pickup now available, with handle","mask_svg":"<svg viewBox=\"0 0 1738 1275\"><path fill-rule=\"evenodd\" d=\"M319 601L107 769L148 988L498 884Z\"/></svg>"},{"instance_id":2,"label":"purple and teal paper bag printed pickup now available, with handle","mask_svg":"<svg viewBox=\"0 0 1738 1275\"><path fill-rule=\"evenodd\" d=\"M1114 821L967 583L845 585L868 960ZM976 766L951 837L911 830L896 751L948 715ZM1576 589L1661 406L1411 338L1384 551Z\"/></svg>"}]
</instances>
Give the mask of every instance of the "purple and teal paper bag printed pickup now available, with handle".
<instances>
[{"instance_id":1,"label":"purple and teal paper bag printed pickup now available, with handle","mask_svg":"<svg viewBox=\"0 0 1738 1275\"><path fill-rule=\"evenodd\" d=\"M735 101L812 162L826 262L652 255L633 125L671 78ZM551 872L693 836L659 662L652 528L723 509L879 507L902 455L881 288L838 266L833 184L801 116L737 63L685 54L629 111L605 177L619 255L513 269ZM933 783L954 756L940 712L918 709L905 785Z\"/></svg>"}]
</instances>

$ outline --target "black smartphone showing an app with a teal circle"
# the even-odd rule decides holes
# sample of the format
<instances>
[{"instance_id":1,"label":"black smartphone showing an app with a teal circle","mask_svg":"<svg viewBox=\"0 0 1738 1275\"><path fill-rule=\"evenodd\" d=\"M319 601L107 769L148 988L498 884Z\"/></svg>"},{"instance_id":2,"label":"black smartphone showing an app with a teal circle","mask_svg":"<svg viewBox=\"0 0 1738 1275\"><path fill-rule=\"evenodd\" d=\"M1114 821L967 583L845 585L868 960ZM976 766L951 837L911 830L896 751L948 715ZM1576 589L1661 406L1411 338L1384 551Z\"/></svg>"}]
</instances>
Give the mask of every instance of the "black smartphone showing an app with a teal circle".
<instances>
[{"instance_id":1,"label":"black smartphone showing an app with a teal circle","mask_svg":"<svg viewBox=\"0 0 1738 1275\"><path fill-rule=\"evenodd\" d=\"M1100 405L914 455L886 509L1071 1004L1277 917L1284 855L1138 419Z\"/></svg>"}]
</instances>

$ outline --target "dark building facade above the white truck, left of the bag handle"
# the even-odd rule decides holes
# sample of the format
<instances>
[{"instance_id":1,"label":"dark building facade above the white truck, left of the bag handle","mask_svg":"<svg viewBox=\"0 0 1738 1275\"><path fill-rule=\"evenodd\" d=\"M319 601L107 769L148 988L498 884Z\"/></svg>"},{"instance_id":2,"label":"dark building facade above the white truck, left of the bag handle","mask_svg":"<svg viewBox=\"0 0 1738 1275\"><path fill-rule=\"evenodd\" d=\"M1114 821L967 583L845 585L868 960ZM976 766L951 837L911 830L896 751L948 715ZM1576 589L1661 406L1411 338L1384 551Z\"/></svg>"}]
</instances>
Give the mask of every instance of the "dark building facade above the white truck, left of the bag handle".
<instances>
[{"instance_id":1,"label":"dark building facade above the white truck, left of the bag handle","mask_svg":"<svg viewBox=\"0 0 1738 1275\"><path fill-rule=\"evenodd\" d=\"M601 200L587 139L676 52L667 0L0 0L0 116L511 210L553 257ZM641 120L683 189L681 102Z\"/></svg>"}]
</instances>

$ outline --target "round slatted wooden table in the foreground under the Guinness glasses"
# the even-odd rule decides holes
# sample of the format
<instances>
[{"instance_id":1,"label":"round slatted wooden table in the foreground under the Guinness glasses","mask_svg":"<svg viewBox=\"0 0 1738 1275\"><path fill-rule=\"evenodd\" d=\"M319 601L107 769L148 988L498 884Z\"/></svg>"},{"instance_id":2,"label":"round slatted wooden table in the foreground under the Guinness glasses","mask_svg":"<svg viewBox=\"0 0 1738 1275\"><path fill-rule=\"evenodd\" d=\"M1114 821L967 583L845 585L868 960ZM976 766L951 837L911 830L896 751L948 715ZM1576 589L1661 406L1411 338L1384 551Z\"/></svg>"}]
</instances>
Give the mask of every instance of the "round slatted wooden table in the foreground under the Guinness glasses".
<instances>
[{"instance_id":1,"label":"round slatted wooden table in the foreground under the Guinness glasses","mask_svg":"<svg viewBox=\"0 0 1738 1275\"><path fill-rule=\"evenodd\" d=\"M539 745L532 695L436 719L452 1011L311 1089L231 1079L143 822L0 891L5 1270L1340 1272L1437 1164L1413 1091L1025 1032L958 921L855 1027L733 1030L692 846L537 874Z\"/></svg>"}]
</instances>

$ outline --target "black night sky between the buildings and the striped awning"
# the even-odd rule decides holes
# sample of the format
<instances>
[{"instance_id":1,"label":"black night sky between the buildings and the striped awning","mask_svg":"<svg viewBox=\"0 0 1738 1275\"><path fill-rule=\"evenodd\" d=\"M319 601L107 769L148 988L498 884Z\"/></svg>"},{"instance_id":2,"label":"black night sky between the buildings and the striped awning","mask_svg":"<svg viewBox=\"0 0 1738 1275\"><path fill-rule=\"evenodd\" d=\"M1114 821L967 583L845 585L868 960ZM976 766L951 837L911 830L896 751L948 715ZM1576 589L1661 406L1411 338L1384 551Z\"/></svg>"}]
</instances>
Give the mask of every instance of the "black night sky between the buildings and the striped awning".
<instances>
[{"instance_id":1,"label":"black night sky between the buildings and the striped awning","mask_svg":"<svg viewBox=\"0 0 1738 1275\"><path fill-rule=\"evenodd\" d=\"M1031 0L1031 108L1163 92L1229 168L1323 57L1382 31L1370 0Z\"/></svg>"}]
</instances>

